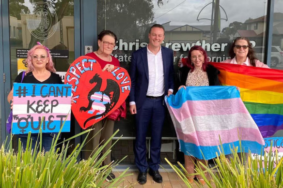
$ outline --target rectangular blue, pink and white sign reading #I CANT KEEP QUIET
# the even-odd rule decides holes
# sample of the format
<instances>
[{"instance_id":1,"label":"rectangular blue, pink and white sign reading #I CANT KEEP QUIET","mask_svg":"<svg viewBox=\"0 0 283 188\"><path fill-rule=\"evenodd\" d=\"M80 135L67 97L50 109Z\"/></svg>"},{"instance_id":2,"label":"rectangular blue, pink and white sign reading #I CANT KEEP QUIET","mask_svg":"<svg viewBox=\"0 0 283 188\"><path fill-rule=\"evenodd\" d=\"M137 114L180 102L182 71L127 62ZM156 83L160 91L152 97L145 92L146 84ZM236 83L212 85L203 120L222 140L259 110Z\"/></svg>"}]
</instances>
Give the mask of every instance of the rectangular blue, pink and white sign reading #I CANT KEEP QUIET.
<instances>
[{"instance_id":1,"label":"rectangular blue, pink and white sign reading #I CANT KEEP QUIET","mask_svg":"<svg viewBox=\"0 0 283 188\"><path fill-rule=\"evenodd\" d=\"M38 133L40 126L42 132L59 132L62 126L62 132L69 132L71 88L63 84L15 83L12 133Z\"/></svg>"}]
</instances>

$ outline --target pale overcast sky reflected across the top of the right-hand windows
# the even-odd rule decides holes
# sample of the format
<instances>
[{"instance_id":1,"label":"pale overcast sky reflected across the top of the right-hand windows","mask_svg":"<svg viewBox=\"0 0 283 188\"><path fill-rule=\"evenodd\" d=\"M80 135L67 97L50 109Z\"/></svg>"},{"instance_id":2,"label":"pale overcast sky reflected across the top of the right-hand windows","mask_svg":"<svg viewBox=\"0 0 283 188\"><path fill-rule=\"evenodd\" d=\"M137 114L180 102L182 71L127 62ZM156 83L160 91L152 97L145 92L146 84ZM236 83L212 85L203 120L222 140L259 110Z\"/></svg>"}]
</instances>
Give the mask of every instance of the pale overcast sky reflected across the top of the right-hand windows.
<instances>
[{"instance_id":1,"label":"pale overcast sky reflected across the top of the right-hand windows","mask_svg":"<svg viewBox=\"0 0 283 188\"><path fill-rule=\"evenodd\" d=\"M197 21L202 8L212 0L164 0L163 6L157 6L154 0L155 19L158 24L171 21L170 25L210 25L210 20ZM245 22L248 18L257 18L266 14L267 0L220 0L220 6L225 10L228 21L221 20L221 29L231 22ZM212 3L206 6L199 18L211 19ZM274 12L283 13L283 0L275 0ZM162 15L164 14L164 15ZM226 18L220 9L221 18Z\"/></svg>"}]
</instances>

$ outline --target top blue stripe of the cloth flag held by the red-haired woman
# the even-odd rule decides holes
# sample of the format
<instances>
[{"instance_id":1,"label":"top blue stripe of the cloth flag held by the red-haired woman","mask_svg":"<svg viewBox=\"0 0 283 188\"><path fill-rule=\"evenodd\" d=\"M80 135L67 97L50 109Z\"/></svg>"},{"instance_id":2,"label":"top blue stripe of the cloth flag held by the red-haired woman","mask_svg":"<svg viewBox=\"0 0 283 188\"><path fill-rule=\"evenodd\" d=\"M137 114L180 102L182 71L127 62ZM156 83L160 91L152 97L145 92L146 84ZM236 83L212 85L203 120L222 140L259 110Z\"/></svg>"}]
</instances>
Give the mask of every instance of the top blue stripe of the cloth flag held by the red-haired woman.
<instances>
[{"instance_id":1,"label":"top blue stripe of the cloth flag held by the red-haired woman","mask_svg":"<svg viewBox=\"0 0 283 188\"><path fill-rule=\"evenodd\" d=\"M181 88L176 95L167 97L173 108L180 108L185 101L208 101L240 98L235 86L197 86Z\"/></svg>"}]
</instances>

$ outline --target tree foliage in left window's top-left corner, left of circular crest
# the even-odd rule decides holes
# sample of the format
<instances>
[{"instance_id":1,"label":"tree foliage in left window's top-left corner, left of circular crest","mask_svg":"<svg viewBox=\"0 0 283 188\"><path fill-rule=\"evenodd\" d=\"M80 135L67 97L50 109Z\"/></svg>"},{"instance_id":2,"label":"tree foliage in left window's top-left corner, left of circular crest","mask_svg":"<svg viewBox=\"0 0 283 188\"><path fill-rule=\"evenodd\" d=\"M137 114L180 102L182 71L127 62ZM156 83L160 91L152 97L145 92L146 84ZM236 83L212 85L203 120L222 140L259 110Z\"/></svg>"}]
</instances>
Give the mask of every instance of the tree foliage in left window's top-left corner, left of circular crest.
<instances>
[{"instance_id":1,"label":"tree foliage in left window's top-left corner, left of circular crest","mask_svg":"<svg viewBox=\"0 0 283 188\"><path fill-rule=\"evenodd\" d=\"M23 5L25 0L9 0L9 13L11 16L16 17L18 20L21 19L20 14L28 14L30 10L28 7Z\"/></svg>"}]
</instances>

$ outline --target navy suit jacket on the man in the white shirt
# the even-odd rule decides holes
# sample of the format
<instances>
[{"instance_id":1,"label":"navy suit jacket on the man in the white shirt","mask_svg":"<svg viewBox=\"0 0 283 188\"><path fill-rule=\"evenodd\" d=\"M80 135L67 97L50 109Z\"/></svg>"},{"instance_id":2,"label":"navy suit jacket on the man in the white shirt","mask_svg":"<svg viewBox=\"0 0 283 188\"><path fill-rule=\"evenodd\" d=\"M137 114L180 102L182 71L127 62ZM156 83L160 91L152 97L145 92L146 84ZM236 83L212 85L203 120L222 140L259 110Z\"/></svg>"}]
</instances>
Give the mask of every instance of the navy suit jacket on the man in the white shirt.
<instances>
[{"instance_id":1,"label":"navy suit jacket on the man in the white shirt","mask_svg":"<svg viewBox=\"0 0 283 188\"><path fill-rule=\"evenodd\" d=\"M168 89L174 89L174 67L173 67L173 50L161 46L164 84L164 96L168 94ZM142 106L148 89L148 62L147 47L143 47L132 54L131 66L131 90L129 95L130 101L135 101L137 109Z\"/></svg>"}]
</instances>

